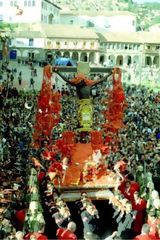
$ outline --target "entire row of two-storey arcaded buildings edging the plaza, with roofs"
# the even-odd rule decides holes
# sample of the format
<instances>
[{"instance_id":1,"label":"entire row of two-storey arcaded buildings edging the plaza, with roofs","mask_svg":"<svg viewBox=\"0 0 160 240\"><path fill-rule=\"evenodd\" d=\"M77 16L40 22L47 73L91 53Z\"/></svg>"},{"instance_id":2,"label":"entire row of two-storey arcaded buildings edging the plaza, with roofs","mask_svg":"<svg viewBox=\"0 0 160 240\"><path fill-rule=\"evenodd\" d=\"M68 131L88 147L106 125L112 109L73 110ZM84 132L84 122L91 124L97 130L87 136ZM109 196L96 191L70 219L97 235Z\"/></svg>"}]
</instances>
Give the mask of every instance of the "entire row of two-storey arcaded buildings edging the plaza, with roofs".
<instances>
[{"instance_id":1,"label":"entire row of two-storey arcaded buildings edging the plaza, with roofs","mask_svg":"<svg viewBox=\"0 0 160 240\"><path fill-rule=\"evenodd\" d=\"M24 31L25 29L25 31ZM69 57L96 65L160 66L160 33L97 33L75 25L27 24L12 34L10 56Z\"/></svg>"}]
</instances>

